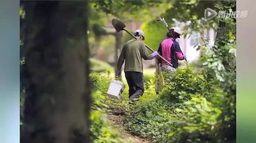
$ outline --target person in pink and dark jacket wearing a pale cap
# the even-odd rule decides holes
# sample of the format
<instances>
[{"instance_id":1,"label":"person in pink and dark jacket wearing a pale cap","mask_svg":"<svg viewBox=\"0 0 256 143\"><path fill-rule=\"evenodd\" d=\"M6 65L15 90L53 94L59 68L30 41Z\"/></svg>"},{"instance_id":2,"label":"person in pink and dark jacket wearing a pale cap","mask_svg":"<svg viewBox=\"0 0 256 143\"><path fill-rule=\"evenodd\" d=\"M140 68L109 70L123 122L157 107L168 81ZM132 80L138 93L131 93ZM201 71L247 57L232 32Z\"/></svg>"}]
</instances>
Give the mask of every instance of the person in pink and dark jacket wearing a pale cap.
<instances>
[{"instance_id":1,"label":"person in pink and dark jacket wearing a pale cap","mask_svg":"<svg viewBox=\"0 0 256 143\"><path fill-rule=\"evenodd\" d=\"M170 66L166 61L160 61L162 71L175 72L178 67L178 60L186 59L186 56L183 54L178 42L176 41L180 35L181 31L179 28L170 28L166 34L166 39L160 43L157 52L172 64L172 66Z\"/></svg>"}]
</instances>

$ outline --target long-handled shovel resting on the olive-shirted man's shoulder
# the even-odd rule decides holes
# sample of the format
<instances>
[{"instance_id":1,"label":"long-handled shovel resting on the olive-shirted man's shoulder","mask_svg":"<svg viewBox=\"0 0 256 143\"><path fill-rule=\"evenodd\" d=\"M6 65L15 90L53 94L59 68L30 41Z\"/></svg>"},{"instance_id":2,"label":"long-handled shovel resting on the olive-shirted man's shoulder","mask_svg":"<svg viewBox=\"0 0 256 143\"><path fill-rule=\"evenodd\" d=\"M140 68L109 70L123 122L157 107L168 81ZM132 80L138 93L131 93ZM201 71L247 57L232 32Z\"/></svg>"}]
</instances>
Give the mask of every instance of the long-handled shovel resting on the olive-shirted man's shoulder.
<instances>
[{"instance_id":1,"label":"long-handled shovel resting on the olive-shirted man's shoulder","mask_svg":"<svg viewBox=\"0 0 256 143\"><path fill-rule=\"evenodd\" d=\"M133 38L135 38L136 39L136 37L133 35L133 34L131 34L130 33L130 31L127 31L126 29L125 29L125 27L126 27L126 25L124 25L123 24L123 22L121 22L119 19L112 19L112 25L114 26L114 29L116 30L116 31L126 31L128 34L130 34ZM154 49L151 49L148 45L146 45L145 44L145 46L149 49L149 50L151 50L151 52L154 52ZM169 61L167 61L165 58L163 58L161 55L158 55L161 59L163 59L163 61L166 61L166 63L167 64L169 64L170 66L172 66L172 64L169 62Z\"/></svg>"}]
</instances>

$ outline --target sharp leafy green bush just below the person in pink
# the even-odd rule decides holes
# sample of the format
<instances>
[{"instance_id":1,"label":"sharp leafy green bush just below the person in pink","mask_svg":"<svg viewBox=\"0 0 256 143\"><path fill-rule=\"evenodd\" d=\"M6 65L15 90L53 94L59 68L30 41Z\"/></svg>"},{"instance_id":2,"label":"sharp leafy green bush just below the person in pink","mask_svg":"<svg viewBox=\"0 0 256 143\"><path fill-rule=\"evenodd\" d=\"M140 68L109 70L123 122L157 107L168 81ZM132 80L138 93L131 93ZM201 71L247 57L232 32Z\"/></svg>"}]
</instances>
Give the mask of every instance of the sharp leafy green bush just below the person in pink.
<instances>
[{"instance_id":1,"label":"sharp leafy green bush just below the person in pink","mask_svg":"<svg viewBox=\"0 0 256 143\"><path fill-rule=\"evenodd\" d=\"M166 73L163 98L173 103L182 103L191 97L203 95L212 100L212 95L221 97L223 94L218 82L207 73L194 73L190 67L178 68L176 73Z\"/></svg>"}]
</instances>

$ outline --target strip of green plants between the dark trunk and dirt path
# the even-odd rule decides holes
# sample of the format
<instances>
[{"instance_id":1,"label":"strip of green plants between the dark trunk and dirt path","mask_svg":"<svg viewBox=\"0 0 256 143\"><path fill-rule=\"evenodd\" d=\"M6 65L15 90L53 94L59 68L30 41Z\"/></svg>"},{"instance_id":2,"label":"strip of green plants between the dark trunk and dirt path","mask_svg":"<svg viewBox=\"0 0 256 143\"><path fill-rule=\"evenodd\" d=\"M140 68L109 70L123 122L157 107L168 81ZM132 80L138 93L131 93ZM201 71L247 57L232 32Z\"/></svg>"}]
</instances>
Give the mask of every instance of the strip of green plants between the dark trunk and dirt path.
<instances>
[{"instance_id":1,"label":"strip of green plants between the dark trunk and dirt path","mask_svg":"<svg viewBox=\"0 0 256 143\"><path fill-rule=\"evenodd\" d=\"M119 133L115 131L110 122L108 121L106 112L110 109L117 109L117 107L123 108L126 106L124 102L120 100L113 100L109 98L105 93L108 91L108 86L111 81L111 77L108 72L106 73L91 73L90 80L93 85L92 97L93 97L93 111L90 115L92 132L91 140L94 143L124 143L125 141L120 138Z\"/></svg>"}]
</instances>

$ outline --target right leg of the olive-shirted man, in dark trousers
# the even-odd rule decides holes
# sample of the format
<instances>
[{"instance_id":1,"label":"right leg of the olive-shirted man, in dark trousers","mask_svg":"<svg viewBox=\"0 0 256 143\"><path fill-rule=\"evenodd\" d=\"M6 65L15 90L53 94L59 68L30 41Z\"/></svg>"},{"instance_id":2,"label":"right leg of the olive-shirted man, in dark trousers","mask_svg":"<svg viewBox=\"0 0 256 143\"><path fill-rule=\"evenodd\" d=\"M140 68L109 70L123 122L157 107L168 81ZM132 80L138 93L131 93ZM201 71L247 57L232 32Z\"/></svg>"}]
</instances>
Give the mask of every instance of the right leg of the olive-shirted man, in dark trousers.
<instances>
[{"instance_id":1,"label":"right leg of the olive-shirted man, in dark trousers","mask_svg":"<svg viewBox=\"0 0 256 143\"><path fill-rule=\"evenodd\" d=\"M135 93L130 97L130 100L139 100L139 97L144 93L144 76L143 73L133 72L133 85L136 88Z\"/></svg>"}]
</instances>

